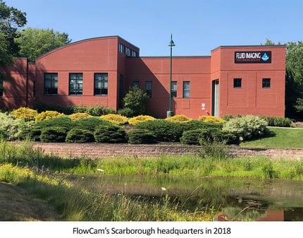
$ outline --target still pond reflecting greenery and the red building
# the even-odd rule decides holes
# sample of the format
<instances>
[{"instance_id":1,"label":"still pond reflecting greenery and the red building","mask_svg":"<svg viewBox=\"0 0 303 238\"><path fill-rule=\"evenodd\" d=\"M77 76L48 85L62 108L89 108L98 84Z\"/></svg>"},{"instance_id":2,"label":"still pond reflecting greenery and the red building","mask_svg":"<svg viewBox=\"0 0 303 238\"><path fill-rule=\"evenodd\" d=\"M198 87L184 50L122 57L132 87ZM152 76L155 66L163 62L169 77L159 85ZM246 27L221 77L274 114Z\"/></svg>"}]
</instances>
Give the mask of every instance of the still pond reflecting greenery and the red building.
<instances>
[{"instance_id":1,"label":"still pond reflecting greenery and the red building","mask_svg":"<svg viewBox=\"0 0 303 238\"><path fill-rule=\"evenodd\" d=\"M107 194L129 194L146 201L169 196L183 210L214 207L217 220L303 221L303 182L280 179L177 176L68 177ZM145 201L145 200L144 200Z\"/></svg>"}]
</instances>

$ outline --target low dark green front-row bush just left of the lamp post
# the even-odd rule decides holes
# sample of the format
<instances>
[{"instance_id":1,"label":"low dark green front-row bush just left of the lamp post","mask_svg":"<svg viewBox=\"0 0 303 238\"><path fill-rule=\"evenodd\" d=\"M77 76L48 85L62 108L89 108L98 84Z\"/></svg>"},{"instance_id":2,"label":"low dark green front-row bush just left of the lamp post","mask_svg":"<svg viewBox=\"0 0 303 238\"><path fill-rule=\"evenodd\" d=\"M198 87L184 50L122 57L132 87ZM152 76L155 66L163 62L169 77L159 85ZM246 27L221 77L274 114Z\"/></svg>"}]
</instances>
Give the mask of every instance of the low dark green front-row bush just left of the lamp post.
<instances>
[{"instance_id":1,"label":"low dark green front-row bush just left of the lamp post","mask_svg":"<svg viewBox=\"0 0 303 238\"><path fill-rule=\"evenodd\" d=\"M153 144L156 142L156 136L146 129L128 131L128 143L130 144Z\"/></svg>"}]
</instances>

